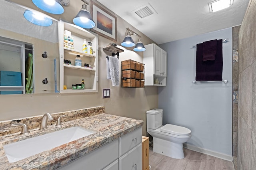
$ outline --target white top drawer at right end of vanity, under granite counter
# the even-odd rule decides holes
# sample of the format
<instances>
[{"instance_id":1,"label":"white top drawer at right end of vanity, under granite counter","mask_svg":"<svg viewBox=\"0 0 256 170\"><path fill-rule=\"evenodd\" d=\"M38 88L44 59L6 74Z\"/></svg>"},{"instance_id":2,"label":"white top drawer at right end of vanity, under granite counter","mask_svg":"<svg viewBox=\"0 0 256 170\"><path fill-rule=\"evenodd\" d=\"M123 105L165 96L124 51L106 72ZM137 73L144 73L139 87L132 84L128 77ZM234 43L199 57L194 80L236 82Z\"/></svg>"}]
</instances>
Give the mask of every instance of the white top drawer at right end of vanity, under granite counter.
<instances>
[{"instance_id":1,"label":"white top drawer at right end of vanity, under granite counter","mask_svg":"<svg viewBox=\"0 0 256 170\"><path fill-rule=\"evenodd\" d=\"M142 142L142 127L119 138L119 156Z\"/></svg>"}]
</instances>

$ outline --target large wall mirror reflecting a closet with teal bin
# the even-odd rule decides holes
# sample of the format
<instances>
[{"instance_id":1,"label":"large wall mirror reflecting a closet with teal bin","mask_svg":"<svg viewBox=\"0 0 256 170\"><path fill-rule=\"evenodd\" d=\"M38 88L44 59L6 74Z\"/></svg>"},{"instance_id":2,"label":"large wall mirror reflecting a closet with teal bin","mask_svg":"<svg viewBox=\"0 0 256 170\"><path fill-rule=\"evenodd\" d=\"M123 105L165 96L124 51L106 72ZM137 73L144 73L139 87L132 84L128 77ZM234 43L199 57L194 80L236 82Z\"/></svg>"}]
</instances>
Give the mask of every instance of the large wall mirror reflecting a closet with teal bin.
<instances>
[{"instance_id":1,"label":"large wall mirror reflecting a closet with teal bin","mask_svg":"<svg viewBox=\"0 0 256 170\"><path fill-rule=\"evenodd\" d=\"M51 26L32 24L24 18L26 7L0 1L0 95L58 92L58 22L53 19ZM42 57L45 51L47 58ZM8 83L15 87L7 87Z\"/></svg>"}]
</instances>

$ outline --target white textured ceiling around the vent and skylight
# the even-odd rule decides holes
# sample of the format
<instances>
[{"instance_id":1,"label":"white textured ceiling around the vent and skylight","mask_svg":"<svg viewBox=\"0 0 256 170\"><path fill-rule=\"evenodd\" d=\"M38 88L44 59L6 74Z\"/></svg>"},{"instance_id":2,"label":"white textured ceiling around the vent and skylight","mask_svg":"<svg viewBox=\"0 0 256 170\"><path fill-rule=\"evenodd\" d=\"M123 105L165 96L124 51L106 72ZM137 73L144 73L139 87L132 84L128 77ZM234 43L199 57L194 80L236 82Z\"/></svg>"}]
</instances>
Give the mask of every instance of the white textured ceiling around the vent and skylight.
<instances>
[{"instance_id":1,"label":"white textured ceiling around the vent and skylight","mask_svg":"<svg viewBox=\"0 0 256 170\"><path fill-rule=\"evenodd\" d=\"M161 44L242 24L249 0L211 12L213 0L98 0L154 42ZM158 14L140 18L133 11L150 4Z\"/></svg>"}]
</instances>

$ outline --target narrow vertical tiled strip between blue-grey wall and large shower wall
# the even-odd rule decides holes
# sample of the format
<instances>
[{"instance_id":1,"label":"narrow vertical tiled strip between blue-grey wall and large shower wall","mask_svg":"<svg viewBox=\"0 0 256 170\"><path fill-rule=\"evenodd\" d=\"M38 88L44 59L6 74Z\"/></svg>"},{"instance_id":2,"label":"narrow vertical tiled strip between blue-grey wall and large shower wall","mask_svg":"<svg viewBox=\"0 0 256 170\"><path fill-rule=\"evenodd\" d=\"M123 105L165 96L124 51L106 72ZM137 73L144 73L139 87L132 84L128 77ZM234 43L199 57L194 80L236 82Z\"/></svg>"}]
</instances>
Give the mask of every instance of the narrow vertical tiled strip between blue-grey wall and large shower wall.
<instances>
[{"instance_id":1,"label":"narrow vertical tiled strip between blue-grey wall and large shower wall","mask_svg":"<svg viewBox=\"0 0 256 170\"><path fill-rule=\"evenodd\" d=\"M233 116L232 116L232 136L233 136L233 160L234 167L236 169L236 160L237 160L237 127L238 127L238 33L240 26L233 27L233 71L232 71L232 82L233 82Z\"/></svg>"}]
</instances>

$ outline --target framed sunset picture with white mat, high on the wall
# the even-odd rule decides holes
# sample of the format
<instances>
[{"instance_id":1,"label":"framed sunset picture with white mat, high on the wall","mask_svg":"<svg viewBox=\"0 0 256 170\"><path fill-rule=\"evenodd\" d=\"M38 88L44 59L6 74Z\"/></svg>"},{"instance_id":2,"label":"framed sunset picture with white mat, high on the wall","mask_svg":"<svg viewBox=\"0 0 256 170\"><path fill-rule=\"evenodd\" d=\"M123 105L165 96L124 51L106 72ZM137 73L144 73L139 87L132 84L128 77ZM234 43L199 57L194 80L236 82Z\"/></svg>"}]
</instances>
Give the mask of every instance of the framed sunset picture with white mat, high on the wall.
<instances>
[{"instance_id":1,"label":"framed sunset picture with white mat, high on the wall","mask_svg":"<svg viewBox=\"0 0 256 170\"><path fill-rule=\"evenodd\" d=\"M116 17L93 1L90 1L90 13L96 24L91 31L116 42Z\"/></svg>"}]
</instances>

